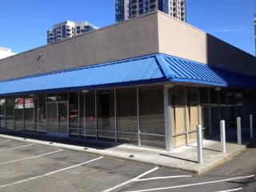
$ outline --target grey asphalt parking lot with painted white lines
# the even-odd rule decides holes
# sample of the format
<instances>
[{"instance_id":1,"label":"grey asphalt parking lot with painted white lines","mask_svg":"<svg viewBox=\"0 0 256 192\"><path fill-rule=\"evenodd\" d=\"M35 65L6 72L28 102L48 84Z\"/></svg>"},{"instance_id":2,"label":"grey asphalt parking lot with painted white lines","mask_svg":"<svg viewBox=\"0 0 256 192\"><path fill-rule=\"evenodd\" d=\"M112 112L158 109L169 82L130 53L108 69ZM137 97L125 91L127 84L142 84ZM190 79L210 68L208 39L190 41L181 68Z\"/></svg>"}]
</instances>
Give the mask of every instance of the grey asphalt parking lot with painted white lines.
<instances>
[{"instance_id":1,"label":"grey asphalt parking lot with painted white lines","mask_svg":"<svg viewBox=\"0 0 256 192\"><path fill-rule=\"evenodd\" d=\"M0 191L238 191L253 173L196 176L0 138Z\"/></svg>"}]
</instances>

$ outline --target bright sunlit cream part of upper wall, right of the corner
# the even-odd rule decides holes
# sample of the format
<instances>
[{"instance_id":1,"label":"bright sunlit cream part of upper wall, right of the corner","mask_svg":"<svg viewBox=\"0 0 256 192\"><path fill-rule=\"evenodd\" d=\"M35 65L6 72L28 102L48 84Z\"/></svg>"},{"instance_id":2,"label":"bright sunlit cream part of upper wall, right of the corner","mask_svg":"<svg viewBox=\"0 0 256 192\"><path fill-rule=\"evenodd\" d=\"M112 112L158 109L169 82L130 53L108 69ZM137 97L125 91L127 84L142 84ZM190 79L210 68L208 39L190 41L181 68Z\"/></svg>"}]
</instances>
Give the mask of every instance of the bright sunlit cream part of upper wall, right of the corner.
<instances>
[{"instance_id":1,"label":"bright sunlit cream part of upper wall, right of the corner","mask_svg":"<svg viewBox=\"0 0 256 192\"><path fill-rule=\"evenodd\" d=\"M159 51L179 58L206 63L206 34L158 12Z\"/></svg>"}]
</instances>

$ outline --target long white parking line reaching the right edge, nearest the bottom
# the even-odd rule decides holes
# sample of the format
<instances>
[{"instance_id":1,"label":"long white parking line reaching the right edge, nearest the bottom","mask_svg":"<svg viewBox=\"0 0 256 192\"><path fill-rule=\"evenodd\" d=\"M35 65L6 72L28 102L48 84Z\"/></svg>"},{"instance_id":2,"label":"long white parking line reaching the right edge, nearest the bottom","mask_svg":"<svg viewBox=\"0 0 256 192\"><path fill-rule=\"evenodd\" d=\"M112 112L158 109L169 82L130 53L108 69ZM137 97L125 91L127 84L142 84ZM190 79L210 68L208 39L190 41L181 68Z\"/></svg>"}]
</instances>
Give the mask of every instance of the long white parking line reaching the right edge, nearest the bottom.
<instances>
[{"instance_id":1,"label":"long white parking line reaching the right edge, nearest the bottom","mask_svg":"<svg viewBox=\"0 0 256 192\"><path fill-rule=\"evenodd\" d=\"M161 187L161 188L154 188L154 189L147 189L147 190L129 190L126 192L146 192L146 191L154 191L154 190L170 190L170 189L177 189L177 188L182 188L182 187L187 187L187 186L202 186L202 185L216 183L216 182L228 182L228 181L232 181L232 180L238 180L241 178L253 178L255 176L256 176L256 174L248 175L248 176L244 176L244 177L238 177L238 178L226 178L226 179L216 180L216 181L212 181L212 182L198 182L198 183L192 183L192 184L187 184L187 185L183 185L183 186L168 186L168 187Z\"/></svg>"}]
</instances>

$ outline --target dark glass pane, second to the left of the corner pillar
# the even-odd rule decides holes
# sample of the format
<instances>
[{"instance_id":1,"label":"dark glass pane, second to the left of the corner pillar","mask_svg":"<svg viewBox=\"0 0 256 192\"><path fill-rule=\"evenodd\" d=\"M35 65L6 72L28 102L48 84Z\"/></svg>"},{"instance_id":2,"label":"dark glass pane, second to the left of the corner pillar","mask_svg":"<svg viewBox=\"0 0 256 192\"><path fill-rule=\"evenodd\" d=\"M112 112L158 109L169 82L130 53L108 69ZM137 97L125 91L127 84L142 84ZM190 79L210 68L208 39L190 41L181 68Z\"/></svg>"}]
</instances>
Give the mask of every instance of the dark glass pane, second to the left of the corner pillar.
<instances>
[{"instance_id":1,"label":"dark glass pane, second to the left of the corner pillar","mask_svg":"<svg viewBox=\"0 0 256 192\"><path fill-rule=\"evenodd\" d=\"M137 89L116 90L118 142L138 145Z\"/></svg>"}]
</instances>

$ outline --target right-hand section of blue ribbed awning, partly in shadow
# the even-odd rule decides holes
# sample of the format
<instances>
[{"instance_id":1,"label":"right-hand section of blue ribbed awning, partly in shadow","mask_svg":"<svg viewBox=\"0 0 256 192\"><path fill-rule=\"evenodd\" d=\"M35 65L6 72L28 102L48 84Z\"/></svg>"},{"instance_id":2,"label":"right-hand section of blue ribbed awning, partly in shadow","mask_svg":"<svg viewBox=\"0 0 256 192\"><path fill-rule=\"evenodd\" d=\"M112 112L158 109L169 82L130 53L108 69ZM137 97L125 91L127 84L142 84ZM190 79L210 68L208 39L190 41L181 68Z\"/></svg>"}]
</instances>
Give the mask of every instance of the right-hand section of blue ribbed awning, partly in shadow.
<instances>
[{"instance_id":1,"label":"right-hand section of blue ribbed awning, partly in shadow","mask_svg":"<svg viewBox=\"0 0 256 192\"><path fill-rule=\"evenodd\" d=\"M220 69L214 66L193 62L183 58L175 58L166 54L156 56L171 82L198 83L210 86L232 86L255 89L256 76L238 74L234 71Z\"/></svg>"}]
</instances>

